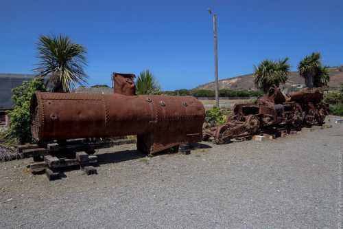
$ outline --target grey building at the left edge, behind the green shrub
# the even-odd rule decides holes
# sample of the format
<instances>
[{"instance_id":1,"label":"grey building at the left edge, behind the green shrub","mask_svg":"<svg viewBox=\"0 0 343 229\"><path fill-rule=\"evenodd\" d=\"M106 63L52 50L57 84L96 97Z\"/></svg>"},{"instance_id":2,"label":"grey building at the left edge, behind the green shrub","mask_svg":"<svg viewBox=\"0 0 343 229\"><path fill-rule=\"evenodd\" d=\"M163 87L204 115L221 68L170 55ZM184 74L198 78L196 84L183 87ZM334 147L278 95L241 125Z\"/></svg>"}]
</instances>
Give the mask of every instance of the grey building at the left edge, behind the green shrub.
<instances>
[{"instance_id":1,"label":"grey building at the left edge, behind the green shrub","mask_svg":"<svg viewBox=\"0 0 343 229\"><path fill-rule=\"evenodd\" d=\"M0 110L12 109L12 89L32 78L32 74L0 74Z\"/></svg>"}]
</instances>

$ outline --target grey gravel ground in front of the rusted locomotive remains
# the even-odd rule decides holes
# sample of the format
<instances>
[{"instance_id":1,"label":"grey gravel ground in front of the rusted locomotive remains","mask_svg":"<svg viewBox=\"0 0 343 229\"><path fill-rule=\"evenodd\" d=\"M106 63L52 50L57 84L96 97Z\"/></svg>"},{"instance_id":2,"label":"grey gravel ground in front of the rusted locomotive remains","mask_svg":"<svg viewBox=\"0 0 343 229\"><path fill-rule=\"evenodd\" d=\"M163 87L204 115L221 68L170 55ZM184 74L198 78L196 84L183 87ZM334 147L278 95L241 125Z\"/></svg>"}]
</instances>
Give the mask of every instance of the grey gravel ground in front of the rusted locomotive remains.
<instances>
[{"instance_id":1,"label":"grey gravel ground in front of the rusted locomotive remains","mask_svg":"<svg viewBox=\"0 0 343 229\"><path fill-rule=\"evenodd\" d=\"M0 163L0 228L340 228L343 124L148 158L99 151L98 175L49 182Z\"/></svg>"}]
</instances>

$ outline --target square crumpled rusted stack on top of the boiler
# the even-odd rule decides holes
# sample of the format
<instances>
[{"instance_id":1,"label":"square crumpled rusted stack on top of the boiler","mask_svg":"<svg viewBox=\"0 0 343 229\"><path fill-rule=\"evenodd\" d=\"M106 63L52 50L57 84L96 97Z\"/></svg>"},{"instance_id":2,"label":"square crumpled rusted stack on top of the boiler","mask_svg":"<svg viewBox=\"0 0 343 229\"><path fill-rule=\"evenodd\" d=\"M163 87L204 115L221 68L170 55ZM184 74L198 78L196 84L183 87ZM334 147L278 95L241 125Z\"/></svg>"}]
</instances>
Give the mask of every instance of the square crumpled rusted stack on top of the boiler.
<instances>
[{"instance_id":1,"label":"square crumpled rusted stack on top of the boiler","mask_svg":"<svg viewBox=\"0 0 343 229\"><path fill-rule=\"evenodd\" d=\"M114 92L125 96L134 96L136 87L134 86L134 74L113 73Z\"/></svg>"}]
</instances>

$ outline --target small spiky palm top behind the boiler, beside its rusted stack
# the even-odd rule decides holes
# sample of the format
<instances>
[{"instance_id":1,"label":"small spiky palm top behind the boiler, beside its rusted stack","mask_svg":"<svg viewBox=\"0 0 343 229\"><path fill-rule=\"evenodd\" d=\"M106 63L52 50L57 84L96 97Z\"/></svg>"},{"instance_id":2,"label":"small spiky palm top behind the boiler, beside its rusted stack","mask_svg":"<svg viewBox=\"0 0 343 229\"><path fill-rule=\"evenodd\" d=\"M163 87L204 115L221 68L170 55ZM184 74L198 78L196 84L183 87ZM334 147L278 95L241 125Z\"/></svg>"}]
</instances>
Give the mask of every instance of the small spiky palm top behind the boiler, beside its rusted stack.
<instances>
[{"instance_id":1,"label":"small spiky palm top behind the boiler, beside its rusted stack","mask_svg":"<svg viewBox=\"0 0 343 229\"><path fill-rule=\"evenodd\" d=\"M145 70L139 74L136 81L136 93L138 95L159 94L160 92L161 87L149 70Z\"/></svg>"}]
</instances>

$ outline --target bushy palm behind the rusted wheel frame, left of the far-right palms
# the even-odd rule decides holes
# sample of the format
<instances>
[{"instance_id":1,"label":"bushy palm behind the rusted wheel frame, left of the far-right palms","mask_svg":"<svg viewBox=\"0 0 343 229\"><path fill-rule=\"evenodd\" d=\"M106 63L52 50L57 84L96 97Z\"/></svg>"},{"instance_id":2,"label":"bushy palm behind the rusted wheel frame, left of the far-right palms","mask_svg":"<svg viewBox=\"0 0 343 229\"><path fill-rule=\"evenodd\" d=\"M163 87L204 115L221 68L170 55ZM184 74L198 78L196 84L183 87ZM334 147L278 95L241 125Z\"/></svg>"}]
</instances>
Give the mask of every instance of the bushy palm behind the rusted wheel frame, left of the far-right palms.
<instances>
[{"instance_id":1,"label":"bushy palm behind the rusted wheel frame, left of the far-right palms","mask_svg":"<svg viewBox=\"0 0 343 229\"><path fill-rule=\"evenodd\" d=\"M280 61L262 61L258 67L254 65L255 80L254 83L258 89L261 89L268 93L270 87L279 87L280 84L284 84L288 78L289 64L288 57Z\"/></svg>"}]
</instances>

